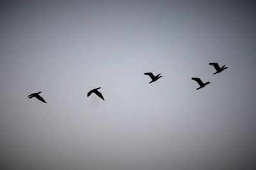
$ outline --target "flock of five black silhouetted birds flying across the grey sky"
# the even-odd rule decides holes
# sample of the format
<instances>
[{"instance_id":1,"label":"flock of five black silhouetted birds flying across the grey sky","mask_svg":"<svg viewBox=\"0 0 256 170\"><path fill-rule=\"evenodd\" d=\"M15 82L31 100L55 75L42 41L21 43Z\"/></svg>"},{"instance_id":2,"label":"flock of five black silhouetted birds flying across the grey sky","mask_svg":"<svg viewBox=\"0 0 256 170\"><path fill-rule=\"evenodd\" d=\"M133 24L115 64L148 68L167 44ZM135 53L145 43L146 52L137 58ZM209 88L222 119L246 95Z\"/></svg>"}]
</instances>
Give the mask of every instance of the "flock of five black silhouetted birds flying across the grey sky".
<instances>
[{"instance_id":1,"label":"flock of five black silhouetted birds flying across the grey sky","mask_svg":"<svg viewBox=\"0 0 256 170\"><path fill-rule=\"evenodd\" d=\"M221 73L221 71L223 71L224 69L227 69L228 67L225 67L226 65L220 67L218 63L216 62L210 62L209 65L213 66L215 69L216 69L216 72L213 73L213 74L217 74L217 73ZM156 76L154 76L153 73L144 73L145 75L147 76L150 76L150 78L152 79L149 83L152 83L156 80L158 80L159 78L161 78L162 76L160 76L160 74L157 74ZM203 87L205 87L205 85L208 85L209 81L207 81L206 83L204 83L200 78L196 78L196 77L193 77L191 78L192 80L195 80L199 85L200 87L198 87L196 90L198 89L202 89ZM92 89L90 90L90 92L88 92L87 94L87 97L89 97L92 93L96 94L97 96L99 96L102 100L105 100L104 97L102 96L102 94L98 91L101 87L98 87L96 89ZM39 94L42 93L42 92L37 92L37 93L33 93L33 94L30 94L28 97L29 99L33 98L33 97L36 97L36 99L46 103L46 101L44 100L43 97L41 97Z\"/></svg>"}]
</instances>

